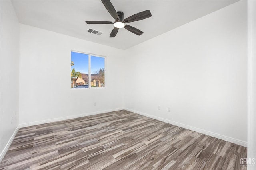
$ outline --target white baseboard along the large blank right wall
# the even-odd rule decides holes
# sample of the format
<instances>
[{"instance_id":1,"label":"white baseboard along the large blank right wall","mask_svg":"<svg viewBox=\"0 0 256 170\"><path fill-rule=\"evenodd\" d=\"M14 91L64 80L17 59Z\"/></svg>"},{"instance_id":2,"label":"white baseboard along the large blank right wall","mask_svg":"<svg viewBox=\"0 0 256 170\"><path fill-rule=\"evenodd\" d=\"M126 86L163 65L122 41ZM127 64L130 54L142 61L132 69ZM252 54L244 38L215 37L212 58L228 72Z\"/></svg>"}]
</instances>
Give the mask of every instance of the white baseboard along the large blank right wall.
<instances>
[{"instance_id":1,"label":"white baseboard along the large blank right wall","mask_svg":"<svg viewBox=\"0 0 256 170\"><path fill-rule=\"evenodd\" d=\"M242 145L244 147L247 147L247 142L246 141L241 141L239 139L234 139L232 137L228 137L228 136L225 136L225 135L220 135L218 133L206 131L206 130L203 130L203 129L200 129L200 128L197 128L197 127L192 127L192 126L189 126L189 125L185 125L185 124L182 124L182 123L178 123L178 122L175 122L175 121L171 121L171 120L168 120L168 119L157 117L157 116L154 116L154 115L149 115L147 113L142 113L140 111L136 111L136 110L132 110L132 109L128 109L128 108L124 108L124 109L127 110L127 111L131 111L133 113L137 113L137 114L140 114L140 115L143 115L143 116L146 116L146 117L150 117L152 119L160 120L160 121L172 124L172 125L183 127L185 129L189 129L189 130L192 130L192 131L203 133L205 135L209 135L209 136L212 136L212 137L216 137L218 139L222 139L224 141L228 141L228 142L231 142L231 143L235 143L237 145Z\"/></svg>"}]
</instances>

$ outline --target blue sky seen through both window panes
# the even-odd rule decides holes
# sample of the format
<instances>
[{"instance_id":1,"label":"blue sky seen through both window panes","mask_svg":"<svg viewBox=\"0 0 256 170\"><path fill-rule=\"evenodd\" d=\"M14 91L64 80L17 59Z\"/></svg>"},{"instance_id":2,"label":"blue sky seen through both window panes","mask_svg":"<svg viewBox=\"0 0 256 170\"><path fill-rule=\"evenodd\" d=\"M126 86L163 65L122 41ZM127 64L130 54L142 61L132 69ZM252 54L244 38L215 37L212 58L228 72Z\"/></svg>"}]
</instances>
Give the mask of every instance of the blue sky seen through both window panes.
<instances>
[{"instance_id":1,"label":"blue sky seen through both window panes","mask_svg":"<svg viewBox=\"0 0 256 170\"><path fill-rule=\"evenodd\" d=\"M88 54L71 51L71 61L74 62L74 65L71 66L71 70L75 68L76 71L81 73L88 73L88 57ZM105 68L104 58L91 56L91 73L94 74L95 71L100 68Z\"/></svg>"}]
</instances>

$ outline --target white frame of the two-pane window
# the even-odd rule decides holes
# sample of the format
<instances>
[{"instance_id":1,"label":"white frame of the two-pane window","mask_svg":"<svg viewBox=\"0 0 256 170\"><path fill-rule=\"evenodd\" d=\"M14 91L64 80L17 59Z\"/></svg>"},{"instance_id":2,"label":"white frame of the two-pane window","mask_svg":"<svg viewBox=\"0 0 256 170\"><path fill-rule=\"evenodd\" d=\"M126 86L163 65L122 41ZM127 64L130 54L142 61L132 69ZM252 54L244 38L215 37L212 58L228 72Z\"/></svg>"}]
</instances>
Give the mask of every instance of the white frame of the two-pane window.
<instances>
[{"instance_id":1,"label":"white frame of the two-pane window","mask_svg":"<svg viewBox=\"0 0 256 170\"><path fill-rule=\"evenodd\" d=\"M97 55L97 54L92 54L92 53L85 53L85 52L81 52L81 51L76 51L76 50L71 50L70 51L70 62L71 62L71 60L72 60L72 56L71 56L71 52L75 52L75 53L82 53L82 54L86 54L86 55L88 55L88 78L89 78L89 80L88 80L88 88L70 88L70 89L72 89L72 90L74 90L74 89L106 89L106 86L107 86L107 57L106 56L104 56L104 55ZM102 58L104 58L104 78L105 78L105 86L104 87L91 87L91 56L94 56L94 57L102 57ZM69 62L69 63L70 63Z\"/></svg>"}]
</instances>

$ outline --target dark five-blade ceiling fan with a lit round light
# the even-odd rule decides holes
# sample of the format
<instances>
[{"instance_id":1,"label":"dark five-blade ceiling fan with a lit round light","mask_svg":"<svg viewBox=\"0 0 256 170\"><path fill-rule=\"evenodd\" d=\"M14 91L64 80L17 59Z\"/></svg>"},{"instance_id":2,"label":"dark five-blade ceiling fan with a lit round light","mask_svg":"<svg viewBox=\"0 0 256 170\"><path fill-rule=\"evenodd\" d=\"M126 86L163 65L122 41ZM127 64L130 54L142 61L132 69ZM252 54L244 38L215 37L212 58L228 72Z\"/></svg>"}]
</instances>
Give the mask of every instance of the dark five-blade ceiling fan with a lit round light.
<instances>
[{"instance_id":1,"label":"dark five-blade ceiling fan with a lit round light","mask_svg":"<svg viewBox=\"0 0 256 170\"><path fill-rule=\"evenodd\" d=\"M110 15L115 19L114 22L111 21L85 21L87 24L114 24L114 29L110 33L110 38L115 37L119 28L125 28L128 31L136 34L136 35L142 35L142 31L140 31L137 28L134 28L130 25L127 25L126 23L129 22L134 22L134 21L139 21L143 20L145 18L151 17L150 10L142 11L137 14L134 14L126 19L124 19L124 13L121 11L116 12L114 6L110 2L110 0L101 0L105 8L108 10Z\"/></svg>"}]
</instances>

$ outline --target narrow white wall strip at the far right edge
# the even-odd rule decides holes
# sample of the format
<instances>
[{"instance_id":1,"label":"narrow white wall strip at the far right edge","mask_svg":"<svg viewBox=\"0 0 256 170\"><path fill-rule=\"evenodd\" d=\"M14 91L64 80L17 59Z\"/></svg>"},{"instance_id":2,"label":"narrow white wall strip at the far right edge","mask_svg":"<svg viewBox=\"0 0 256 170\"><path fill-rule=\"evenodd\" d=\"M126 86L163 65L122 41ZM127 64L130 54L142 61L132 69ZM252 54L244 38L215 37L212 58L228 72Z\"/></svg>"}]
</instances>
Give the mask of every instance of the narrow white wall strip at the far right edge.
<instances>
[{"instance_id":1,"label":"narrow white wall strip at the far right edge","mask_svg":"<svg viewBox=\"0 0 256 170\"><path fill-rule=\"evenodd\" d=\"M248 0L248 148L247 158L256 159L256 1ZM255 170L256 165L247 166Z\"/></svg>"}]
</instances>

